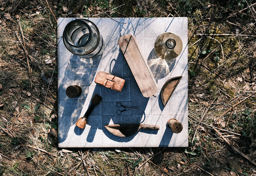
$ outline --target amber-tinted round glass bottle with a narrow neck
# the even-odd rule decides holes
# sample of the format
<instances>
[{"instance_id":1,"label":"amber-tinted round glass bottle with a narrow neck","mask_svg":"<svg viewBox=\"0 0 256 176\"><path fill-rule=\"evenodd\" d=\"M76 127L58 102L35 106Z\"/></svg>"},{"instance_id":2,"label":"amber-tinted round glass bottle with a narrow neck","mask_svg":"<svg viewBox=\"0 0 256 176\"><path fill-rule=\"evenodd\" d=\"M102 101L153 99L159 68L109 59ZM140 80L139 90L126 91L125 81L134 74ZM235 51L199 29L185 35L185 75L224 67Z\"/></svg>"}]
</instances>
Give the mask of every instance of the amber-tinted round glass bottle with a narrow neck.
<instances>
[{"instance_id":1,"label":"amber-tinted round glass bottle with a narrow neck","mask_svg":"<svg viewBox=\"0 0 256 176\"><path fill-rule=\"evenodd\" d=\"M182 47L182 41L179 36L166 32L156 38L154 49L158 57L170 60L180 55Z\"/></svg>"}]
</instances>

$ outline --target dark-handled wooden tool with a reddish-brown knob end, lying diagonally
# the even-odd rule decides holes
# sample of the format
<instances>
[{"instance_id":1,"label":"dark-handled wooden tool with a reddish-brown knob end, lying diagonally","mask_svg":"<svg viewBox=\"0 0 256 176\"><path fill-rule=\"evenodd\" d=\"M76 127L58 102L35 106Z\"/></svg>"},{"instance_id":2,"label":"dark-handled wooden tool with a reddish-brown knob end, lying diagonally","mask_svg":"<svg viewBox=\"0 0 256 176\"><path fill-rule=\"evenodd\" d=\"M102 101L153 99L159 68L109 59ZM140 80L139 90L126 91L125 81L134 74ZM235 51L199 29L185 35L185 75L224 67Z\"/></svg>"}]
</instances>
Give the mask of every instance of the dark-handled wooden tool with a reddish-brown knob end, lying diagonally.
<instances>
[{"instance_id":1,"label":"dark-handled wooden tool with a reddish-brown knob end, lying diagonally","mask_svg":"<svg viewBox=\"0 0 256 176\"><path fill-rule=\"evenodd\" d=\"M96 94L95 94L95 95L92 97L91 105L89 106L89 108L88 108L87 111L85 112L84 116L81 117L81 118L79 118L78 121L76 122L76 126L77 126L78 128L84 129L84 127L85 127L85 125L86 125L86 123L87 123L87 118L88 118L88 116L90 116L90 114L91 114L93 108L94 108L95 106L97 106L97 105L100 103L101 100L102 100L102 98L101 98L99 95L96 95Z\"/></svg>"}]
</instances>

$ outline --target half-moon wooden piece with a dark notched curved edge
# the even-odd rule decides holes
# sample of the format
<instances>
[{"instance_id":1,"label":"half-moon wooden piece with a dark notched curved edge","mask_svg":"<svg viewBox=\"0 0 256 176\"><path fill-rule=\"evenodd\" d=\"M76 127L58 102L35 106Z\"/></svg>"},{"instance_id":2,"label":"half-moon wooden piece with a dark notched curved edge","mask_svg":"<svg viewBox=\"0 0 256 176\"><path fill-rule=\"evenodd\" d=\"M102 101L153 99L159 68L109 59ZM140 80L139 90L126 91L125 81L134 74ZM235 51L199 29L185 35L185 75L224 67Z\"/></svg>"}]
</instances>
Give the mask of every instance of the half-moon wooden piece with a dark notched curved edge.
<instances>
[{"instance_id":1,"label":"half-moon wooden piece with a dark notched curved edge","mask_svg":"<svg viewBox=\"0 0 256 176\"><path fill-rule=\"evenodd\" d=\"M172 93L174 92L175 88L178 86L181 78L182 78L182 76L176 76L176 77L169 79L168 81L166 81L164 83L164 85L161 89L161 92L160 92L161 100L162 100L164 106L169 101L170 97L172 96Z\"/></svg>"}]
</instances>

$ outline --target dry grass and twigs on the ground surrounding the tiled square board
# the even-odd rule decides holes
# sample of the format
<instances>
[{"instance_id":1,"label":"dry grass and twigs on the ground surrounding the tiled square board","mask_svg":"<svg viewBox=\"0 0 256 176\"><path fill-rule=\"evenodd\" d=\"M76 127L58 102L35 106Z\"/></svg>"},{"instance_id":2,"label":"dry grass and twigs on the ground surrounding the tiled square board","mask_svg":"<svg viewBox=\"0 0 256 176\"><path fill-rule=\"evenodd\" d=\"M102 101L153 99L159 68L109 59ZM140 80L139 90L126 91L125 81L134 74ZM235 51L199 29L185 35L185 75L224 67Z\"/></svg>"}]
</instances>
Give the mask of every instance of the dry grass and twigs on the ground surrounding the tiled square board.
<instances>
[{"instance_id":1,"label":"dry grass and twigs on the ground surrounding the tiled square board","mask_svg":"<svg viewBox=\"0 0 256 176\"><path fill-rule=\"evenodd\" d=\"M48 2L0 1L0 175L256 175L253 1ZM80 15L188 17L189 147L58 148L54 17Z\"/></svg>"}]
</instances>

